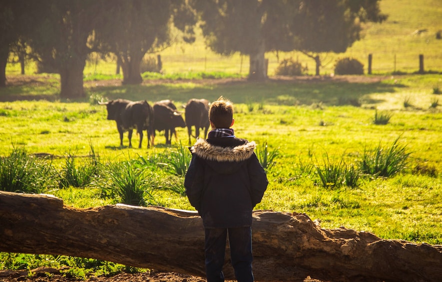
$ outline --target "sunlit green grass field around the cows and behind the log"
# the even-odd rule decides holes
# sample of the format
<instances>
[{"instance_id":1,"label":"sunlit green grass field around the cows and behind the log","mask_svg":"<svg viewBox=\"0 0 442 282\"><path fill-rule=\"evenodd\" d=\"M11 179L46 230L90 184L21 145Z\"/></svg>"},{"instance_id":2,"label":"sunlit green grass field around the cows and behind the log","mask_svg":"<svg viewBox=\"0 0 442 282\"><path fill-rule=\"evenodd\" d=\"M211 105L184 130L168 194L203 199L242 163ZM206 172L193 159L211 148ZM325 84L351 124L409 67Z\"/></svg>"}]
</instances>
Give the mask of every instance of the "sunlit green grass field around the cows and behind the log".
<instances>
[{"instance_id":1,"label":"sunlit green grass field around the cows and behind the log","mask_svg":"<svg viewBox=\"0 0 442 282\"><path fill-rule=\"evenodd\" d=\"M309 76L261 83L244 79L226 83L146 80L141 85L122 86L118 81L114 85L100 81L118 79L113 75L115 64L94 64L92 57L84 72L88 98L81 101L59 101L58 75L32 76L32 82L0 89L0 98L24 99L0 102L0 156L6 157L14 148L22 147L30 155L59 157L53 165L60 168L69 154L81 163L92 145L104 161L151 159L170 153L180 142L187 146L186 130L177 130L179 139L172 139L172 147L165 146L164 137L157 132L153 149L146 148L147 142L143 142L142 149L120 148L115 122L106 120L105 107L98 105L96 99L121 97L154 102L169 98L180 108L190 98L215 100L223 95L235 104L236 134L255 140L258 149L267 143L270 150L279 152L275 166L268 171L268 191L256 209L306 213L312 219L320 219L321 226L327 229L344 226L385 239L440 245L442 96L437 93L441 91L442 78L440 74L410 73L418 70L420 53L426 55L426 70L442 69L442 40L435 39L435 33L442 29L442 2L383 0L381 9L390 14L387 22L368 25L363 40L345 54L330 54L331 63L321 70L322 74L333 73L334 59L343 56L356 57L366 65L368 54L373 53L375 74L370 76ZM428 31L412 35L423 28ZM219 71L227 76L246 76L248 72L247 57L218 56L201 40L195 45L172 46L161 56L164 72L169 75ZM267 56L272 76L278 61L275 53ZM280 54L280 59L289 56L299 58L313 71L313 61L300 53ZM7 77L20 77L18 65L8 64L6 69ZM395 70L409 74L393 75ZM26 73L32 72L29 64ZM387 113L391 119L386 125L376 125L376 112ZM356 166L365 150L378 146L387 150L398 138L410 153L407 166L400 173L391 177L363 175L354 188L321 185L315 165L327 167L329 160ZM133 144L138 140L134 134ZM160 171L161 167L153 169ZM115 203L115 199L100 197L98 190L86 186L46 193L78 208ZM171 191L158 191L155 197L162 206L192 209L186 197ZM0 269L4 267L5 262L0 262Z\"/></svg>"}]
</instances>

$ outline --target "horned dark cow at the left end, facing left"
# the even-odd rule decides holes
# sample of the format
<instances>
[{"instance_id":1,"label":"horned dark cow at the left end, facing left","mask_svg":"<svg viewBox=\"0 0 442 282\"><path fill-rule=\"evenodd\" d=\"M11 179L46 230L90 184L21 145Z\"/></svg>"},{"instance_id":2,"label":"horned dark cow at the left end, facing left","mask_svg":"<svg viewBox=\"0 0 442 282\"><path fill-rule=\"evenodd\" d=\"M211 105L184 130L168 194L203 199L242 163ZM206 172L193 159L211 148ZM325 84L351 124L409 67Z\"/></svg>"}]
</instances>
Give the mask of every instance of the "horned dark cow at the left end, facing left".
<instances>
[{"instance_id":1,"label":"horned dark cow at the left end, facing left","mask_svg":"<svg viewBox=\"0 0 442 282\"><path fill-rule=\"evenodd\" d=\"M104 103L99 102L99 104L106 105L107 119L116 121L121 147L123 146L123 133L126 131L128 132L129 148L132 147L133 129L136 129L140 135L138 148L141 148L141 142L143 141L143 129L147 130L147 148L150 147L150 139L153 136L153 110L147 101L133 102L125 99L116 99Z\"/></svg>"}]
</instances>

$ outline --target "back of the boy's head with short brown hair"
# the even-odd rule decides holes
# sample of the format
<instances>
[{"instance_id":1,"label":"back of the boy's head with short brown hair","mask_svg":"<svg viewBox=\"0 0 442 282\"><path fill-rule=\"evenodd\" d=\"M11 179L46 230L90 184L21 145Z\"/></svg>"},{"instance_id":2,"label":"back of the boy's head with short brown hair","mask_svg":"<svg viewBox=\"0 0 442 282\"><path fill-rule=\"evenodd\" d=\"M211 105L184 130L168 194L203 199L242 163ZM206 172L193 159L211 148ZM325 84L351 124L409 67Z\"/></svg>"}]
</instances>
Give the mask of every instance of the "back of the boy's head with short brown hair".
<instances>
[{"instance_id":1,"label":"back of the boy's head with short brown hair","mask_svg":"<svg viewBox=\"0 0 442 282\"><path fill-rule=\"evenodd\" d=\"M229 128L233 121L233 104L223 96L210 105L209 120L216 128Z\"/></svg>"}]
</instances>

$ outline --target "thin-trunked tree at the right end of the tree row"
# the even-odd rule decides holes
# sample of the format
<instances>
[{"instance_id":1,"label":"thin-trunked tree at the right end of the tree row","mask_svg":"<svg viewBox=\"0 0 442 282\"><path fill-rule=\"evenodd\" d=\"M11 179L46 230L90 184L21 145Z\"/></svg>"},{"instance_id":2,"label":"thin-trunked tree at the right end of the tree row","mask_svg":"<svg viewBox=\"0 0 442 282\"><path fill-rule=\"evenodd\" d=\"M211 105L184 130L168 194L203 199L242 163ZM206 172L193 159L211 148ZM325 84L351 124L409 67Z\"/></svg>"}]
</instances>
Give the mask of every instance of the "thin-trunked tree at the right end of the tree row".
<instances>
[{"instance_id":1,"label":"thin-trunked tree at the right end of the tree row","mask_svg":"<svg viewBox=\"0 0 442 282\"><path fill-rule=\"evenodd\" d=\"M382 22L387 15L379 8L380 0L310 0L300 6L294 17L294 48L313 58L316 75L321 52L345 52L360 40L361 23Z\"/></svg>"}]
</instances>

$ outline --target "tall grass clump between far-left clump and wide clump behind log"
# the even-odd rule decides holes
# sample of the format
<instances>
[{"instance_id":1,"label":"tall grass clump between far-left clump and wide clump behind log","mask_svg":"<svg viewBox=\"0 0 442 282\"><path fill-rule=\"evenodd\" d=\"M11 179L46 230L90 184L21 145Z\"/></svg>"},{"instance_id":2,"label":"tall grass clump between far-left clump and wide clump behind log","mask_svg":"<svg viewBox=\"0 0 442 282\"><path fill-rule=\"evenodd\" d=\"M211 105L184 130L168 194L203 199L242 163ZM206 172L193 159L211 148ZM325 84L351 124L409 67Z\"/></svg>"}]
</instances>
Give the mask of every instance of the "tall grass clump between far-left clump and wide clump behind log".
<instances>
[{"instance_id":1,"label":"tall grass clump between far-left clump and wide clump behind log","mask_svg":"<svg viewBox=\"0 0 442 282\"><path fill-rule=\"evenodd\" d=\"M86 163L76 165L76 159L77 157L70 153L65 157L65 163L62 167L59 179L60 188L69 186L84 187L91 183L94 176L98 175L100 170L100 157L92 145L90 146L90 153Z\"/></svg>"}]
</instances>

